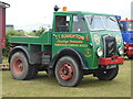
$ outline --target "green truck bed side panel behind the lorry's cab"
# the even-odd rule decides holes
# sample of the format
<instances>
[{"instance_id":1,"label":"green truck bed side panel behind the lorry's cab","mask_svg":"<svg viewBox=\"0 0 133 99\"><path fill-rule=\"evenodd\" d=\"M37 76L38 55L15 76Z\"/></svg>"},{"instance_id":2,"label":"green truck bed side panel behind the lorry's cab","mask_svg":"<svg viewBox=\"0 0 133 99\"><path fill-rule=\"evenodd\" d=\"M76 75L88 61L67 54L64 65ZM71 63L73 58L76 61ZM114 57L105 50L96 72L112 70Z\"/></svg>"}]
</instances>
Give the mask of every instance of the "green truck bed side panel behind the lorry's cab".
<instances>
[{"instance_id":1,"label":"green truck bed side panel behind the lorry's cab","mask_svg":"<svg viewBox=\"0 0 133 99\"><path fill-rule=\"evenodd\" d=\"M41 36L10 36L10 43L20 43L20 44L43 44L51 45L51 33L45 32Z\"/></svg>"}]
</instances>

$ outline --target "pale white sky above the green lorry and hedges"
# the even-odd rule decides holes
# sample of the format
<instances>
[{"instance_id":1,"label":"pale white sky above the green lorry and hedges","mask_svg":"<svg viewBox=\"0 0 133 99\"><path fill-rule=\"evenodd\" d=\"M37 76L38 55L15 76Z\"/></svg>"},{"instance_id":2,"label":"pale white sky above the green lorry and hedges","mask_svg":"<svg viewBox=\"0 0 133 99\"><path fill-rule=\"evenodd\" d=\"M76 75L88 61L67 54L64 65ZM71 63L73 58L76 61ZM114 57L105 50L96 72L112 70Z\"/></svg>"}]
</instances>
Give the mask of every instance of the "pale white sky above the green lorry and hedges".
<instances>
[{"instance_id":1,"label":"pale white sky above the green lorry and hedges","mask_svg":"<svg viewBox=\"0 0 133 99\"><path fill-rule=\"evenodd\" d=\"M131 18L132 0L1 0L10 3L7 9L7 24L27 28L38 24L52 24L53 8L59 6L68 11L89 11ZM33 26L32 26L33 28Z\"/></svg>"}]
</instances>

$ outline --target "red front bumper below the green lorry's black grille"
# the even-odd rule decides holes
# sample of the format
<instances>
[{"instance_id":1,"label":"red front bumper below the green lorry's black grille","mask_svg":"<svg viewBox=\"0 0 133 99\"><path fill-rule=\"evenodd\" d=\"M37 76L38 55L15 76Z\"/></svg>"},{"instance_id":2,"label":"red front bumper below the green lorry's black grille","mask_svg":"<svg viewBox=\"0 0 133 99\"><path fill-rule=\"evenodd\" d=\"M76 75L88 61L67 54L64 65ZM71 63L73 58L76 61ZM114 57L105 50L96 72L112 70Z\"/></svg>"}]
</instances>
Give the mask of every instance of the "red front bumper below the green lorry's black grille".
<instances>
[{"instance_id":1,"label":"red front bumper below the green lorry's black grille","mask_svg":"<svg viewBox=\"0 0 133 99\"><path fill-rule=\"evenodd\" d=\"M109 58L101 57L99 65L111 65L111 64L122 64L124 63L124 57L113 56Z\"/></svg>"}]
</instances>

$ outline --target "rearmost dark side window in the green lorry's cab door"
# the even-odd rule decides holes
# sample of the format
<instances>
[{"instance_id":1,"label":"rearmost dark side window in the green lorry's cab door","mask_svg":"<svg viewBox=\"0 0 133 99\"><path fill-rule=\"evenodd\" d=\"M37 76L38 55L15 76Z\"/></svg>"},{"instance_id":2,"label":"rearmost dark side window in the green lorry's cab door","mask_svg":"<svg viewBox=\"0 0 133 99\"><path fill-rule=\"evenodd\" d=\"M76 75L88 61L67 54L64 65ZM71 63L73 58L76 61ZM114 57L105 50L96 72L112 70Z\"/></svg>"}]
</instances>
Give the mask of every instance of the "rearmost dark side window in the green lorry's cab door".
<instances>
[{"instance_id":1,"label":"rearmost dark side window in the green lorry's cab door","mask_svg":"<svg viewBox=\"0 0 133 99\"><path fill-rule=\"evenodd\" d=\"M55 16L55 32L69 32L70 16L57 15Z\"/></svg>"}]
</instances>

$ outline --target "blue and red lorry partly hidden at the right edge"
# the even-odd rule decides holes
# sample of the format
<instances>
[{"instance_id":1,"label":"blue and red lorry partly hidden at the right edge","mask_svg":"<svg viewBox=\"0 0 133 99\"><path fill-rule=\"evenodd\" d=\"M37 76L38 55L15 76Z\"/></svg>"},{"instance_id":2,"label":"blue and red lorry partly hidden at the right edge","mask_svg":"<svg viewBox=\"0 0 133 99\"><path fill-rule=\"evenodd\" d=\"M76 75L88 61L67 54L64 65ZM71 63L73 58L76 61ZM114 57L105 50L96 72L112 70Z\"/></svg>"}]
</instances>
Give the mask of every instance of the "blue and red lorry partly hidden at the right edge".
<instances>
[{"instance_id":1,"label":"blue and red lorry partly hidden at the right edge","mask_svg":"<svg viewBox=\"0 0 133 99\"><path fill-rule=\"evenodd\" d=\"M124 53L132 59L133 58L133 20L120 20L120 28L122 32L122 37L124 42Z\"/></svg>"}]
</instances>

